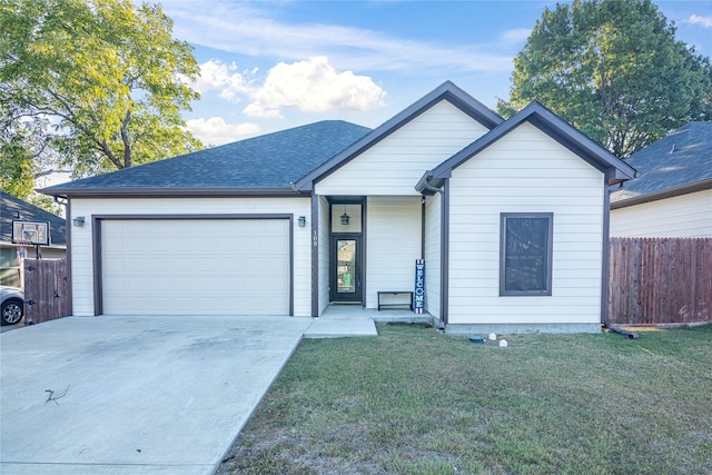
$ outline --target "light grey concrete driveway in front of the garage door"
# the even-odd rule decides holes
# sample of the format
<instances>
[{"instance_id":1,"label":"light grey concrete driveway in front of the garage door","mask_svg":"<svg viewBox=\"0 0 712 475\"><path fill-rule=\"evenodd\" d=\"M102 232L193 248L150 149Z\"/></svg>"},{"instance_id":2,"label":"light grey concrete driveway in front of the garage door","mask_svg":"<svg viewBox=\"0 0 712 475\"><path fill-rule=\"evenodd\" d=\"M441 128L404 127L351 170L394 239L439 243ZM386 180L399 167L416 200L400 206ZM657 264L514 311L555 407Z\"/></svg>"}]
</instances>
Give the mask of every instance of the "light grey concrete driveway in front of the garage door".
<instances>
[{"instance_id":1,"label":"light grey concrete driveway in front of the garage door","mask_svg":"<svg viewBox=\"0 0 712 475\"><path fill-rule=\"evenodd\" d=\"M68 317L4 333L0 473L210 474L312 323Z\"/></svg>"}]
</instances>

